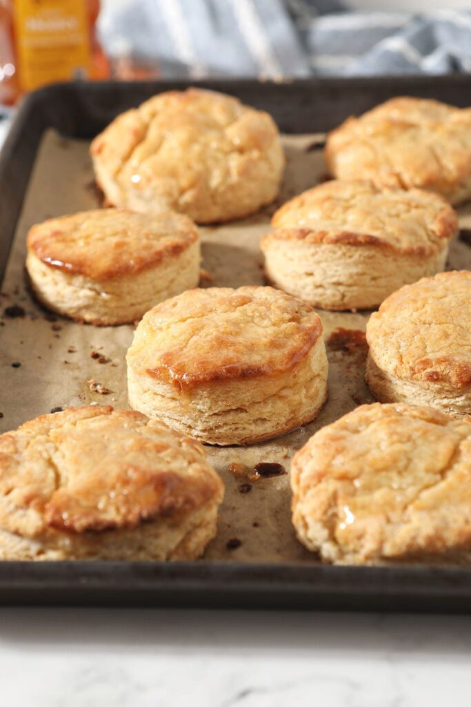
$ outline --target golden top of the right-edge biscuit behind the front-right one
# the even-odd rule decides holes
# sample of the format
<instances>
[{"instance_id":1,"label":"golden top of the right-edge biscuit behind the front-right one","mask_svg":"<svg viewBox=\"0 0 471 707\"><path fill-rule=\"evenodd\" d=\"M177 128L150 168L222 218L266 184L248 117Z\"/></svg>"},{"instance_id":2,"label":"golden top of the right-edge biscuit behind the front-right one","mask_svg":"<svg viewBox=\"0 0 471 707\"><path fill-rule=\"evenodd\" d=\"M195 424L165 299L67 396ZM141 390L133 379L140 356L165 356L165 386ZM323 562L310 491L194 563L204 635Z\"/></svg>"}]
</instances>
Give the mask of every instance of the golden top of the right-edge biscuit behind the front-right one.
<instances>
[{"instance_id":1,"label":"golden top of the right-edge biscuit behind the front-right one","mask_svg":"<svg viewBox=\"0 0 471 707\"><path fill-rule=\"evenodd\" d=\"M366 325L376 365L409 380L471 383L471 271L425 277L390 295Z\"/></svg>"}]
</instances>

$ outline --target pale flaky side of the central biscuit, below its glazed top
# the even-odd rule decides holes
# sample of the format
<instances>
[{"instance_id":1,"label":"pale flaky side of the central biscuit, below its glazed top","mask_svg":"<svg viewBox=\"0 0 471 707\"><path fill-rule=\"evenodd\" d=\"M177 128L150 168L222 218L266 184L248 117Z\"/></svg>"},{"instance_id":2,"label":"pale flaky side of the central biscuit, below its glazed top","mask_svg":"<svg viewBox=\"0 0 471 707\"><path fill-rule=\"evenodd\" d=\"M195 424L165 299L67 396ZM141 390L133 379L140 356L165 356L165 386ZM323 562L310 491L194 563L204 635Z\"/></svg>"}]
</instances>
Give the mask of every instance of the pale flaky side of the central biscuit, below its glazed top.
<instances>
[{"instance_id":1,"label":"pale flaky side of the central biscuit, below its glazed top","mask_svg":"<svg viewBox=\"0 0 471 707\"><path fill-rule=\"evenodd\" d=\"M285 373L181 389L128 366L131 407L210 444L252 444L316 417L327 397L323 339Z\"/></svg>"}]
</instances>

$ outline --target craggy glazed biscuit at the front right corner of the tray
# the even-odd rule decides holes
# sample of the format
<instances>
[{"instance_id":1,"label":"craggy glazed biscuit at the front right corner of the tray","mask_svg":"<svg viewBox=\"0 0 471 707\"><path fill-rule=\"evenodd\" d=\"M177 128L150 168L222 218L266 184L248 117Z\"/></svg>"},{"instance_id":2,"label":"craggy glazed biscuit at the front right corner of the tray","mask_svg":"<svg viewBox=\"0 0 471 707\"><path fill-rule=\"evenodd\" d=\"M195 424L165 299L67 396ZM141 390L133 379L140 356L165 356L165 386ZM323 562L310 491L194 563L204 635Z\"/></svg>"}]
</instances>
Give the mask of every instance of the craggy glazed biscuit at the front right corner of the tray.
<instances>
[{"instance_id":1,"label":"craggy glazed biscuit at the front right corner of the tray","mask_svg":"<svg viewBox=\"0 0 471 707\"><path fill-rule=\"evenodd\" d=\"M327 562L465 560L471 421L428 407L362 405L294 455L292 521Z\"/></svg>"}]
</instances>

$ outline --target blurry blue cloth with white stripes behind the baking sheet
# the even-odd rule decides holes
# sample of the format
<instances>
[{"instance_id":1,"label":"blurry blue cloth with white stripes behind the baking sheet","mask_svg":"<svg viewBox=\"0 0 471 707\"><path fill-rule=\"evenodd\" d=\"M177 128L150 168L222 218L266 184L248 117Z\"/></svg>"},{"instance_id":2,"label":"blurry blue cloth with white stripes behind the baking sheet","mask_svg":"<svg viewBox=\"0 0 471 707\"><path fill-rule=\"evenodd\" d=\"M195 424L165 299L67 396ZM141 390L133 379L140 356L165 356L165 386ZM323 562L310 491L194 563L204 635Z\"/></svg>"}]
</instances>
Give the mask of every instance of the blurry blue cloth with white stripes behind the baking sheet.
<instances>
[{"instance_id":1,"label":"blurry blue cloth with white stripes behind the baking sheet","mask_svg":"<svg viewBox=\"0 0 471 707\"><path fill-rule=\"evenodd\" d=\"M337 0L120 0L104 5L112 56L164 77L471 71L471 12L347 12Z\"/></svg>"}]
</instances>

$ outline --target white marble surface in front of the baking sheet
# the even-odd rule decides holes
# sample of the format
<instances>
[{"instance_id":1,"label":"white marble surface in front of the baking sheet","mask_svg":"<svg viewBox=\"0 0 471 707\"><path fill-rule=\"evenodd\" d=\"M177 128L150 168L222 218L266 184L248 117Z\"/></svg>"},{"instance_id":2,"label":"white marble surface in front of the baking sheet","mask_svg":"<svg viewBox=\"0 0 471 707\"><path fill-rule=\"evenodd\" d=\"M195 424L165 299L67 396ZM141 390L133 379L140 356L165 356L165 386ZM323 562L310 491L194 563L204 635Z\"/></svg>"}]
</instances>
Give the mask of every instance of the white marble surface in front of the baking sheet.
<instances>
[{"instance_id":1,"label":"white marble surface in front of the baking sheet","mask_svg":"<svg viewBox=\"0 0 471 707\"><path fill-rule=\"evenodd\" d=\"M469 707L471 617L0 609L8 707Z\"/></svg>"}]
</instances>

